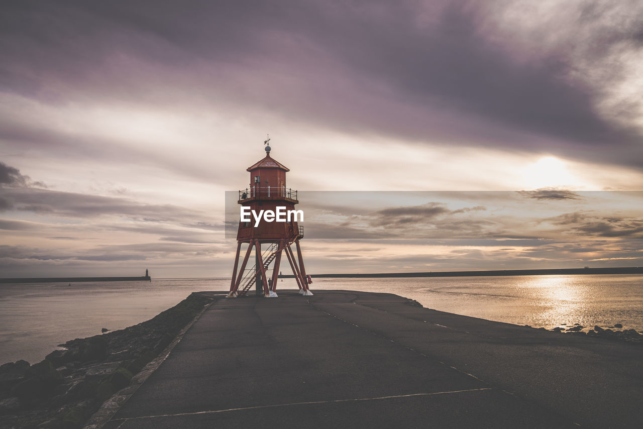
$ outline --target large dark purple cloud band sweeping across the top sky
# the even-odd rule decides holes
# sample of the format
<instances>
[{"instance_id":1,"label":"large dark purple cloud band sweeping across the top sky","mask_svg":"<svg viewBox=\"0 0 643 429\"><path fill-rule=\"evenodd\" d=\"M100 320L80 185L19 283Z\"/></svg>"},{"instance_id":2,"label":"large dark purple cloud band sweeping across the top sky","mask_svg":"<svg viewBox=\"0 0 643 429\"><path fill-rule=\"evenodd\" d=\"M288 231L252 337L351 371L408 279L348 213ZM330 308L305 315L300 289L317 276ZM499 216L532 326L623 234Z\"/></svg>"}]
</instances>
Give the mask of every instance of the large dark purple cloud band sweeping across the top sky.
<instances>
[{"instance_id":1,"label":"large dark purple cloud band sweeping across the top sky","mask_svg":"<svg viewBox=\"0 0 643 429\"><path fill-rule=\"evenodd\" d=\"M508 6L485 1L14 2L0 17L0 86L46 102L217 100L360 134L641 167L638 131L598 109L627 78L613 55L640 46L641 5L613 3L635 17L619 23L597 4L570 12L576 39L529 52L498 26ZM555 37L541 19L540 36ZM578 55L600 80L579 78Z\"/></svg>"}]
</instances>

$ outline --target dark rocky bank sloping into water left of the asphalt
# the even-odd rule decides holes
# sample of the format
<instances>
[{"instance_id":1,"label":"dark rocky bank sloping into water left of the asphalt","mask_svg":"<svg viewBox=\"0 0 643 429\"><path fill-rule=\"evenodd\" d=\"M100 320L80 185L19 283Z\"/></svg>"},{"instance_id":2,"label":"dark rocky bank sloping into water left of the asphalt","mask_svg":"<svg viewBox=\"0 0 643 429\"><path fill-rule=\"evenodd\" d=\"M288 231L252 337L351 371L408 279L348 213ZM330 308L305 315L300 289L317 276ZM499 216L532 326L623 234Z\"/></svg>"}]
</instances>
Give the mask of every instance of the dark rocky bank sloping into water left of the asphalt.
<instances>
[{"instance_id":1,"label":"dark rocky bank sloping into water left of the asphalt","mask_svg":"<svg viewBox=\"0 0 643 429\"><path fill-rule=\"evenodd\" d=\"M0 428L82 428L212 299L193 293L147 322L61 344L39 363L1 365Z\"/></svg>"}]
</instances>

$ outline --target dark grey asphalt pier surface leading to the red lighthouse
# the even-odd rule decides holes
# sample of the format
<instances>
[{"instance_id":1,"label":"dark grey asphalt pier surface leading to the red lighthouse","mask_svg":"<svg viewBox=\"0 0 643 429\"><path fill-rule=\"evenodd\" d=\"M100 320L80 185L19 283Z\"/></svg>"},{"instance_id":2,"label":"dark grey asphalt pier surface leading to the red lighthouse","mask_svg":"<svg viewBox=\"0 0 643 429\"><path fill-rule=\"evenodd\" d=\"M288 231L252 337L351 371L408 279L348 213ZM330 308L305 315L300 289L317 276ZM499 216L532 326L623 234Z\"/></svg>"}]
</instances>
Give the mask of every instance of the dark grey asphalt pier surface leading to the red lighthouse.
<instances>
[{"instance_id":1,"label":"dark grey asphalt pier surface leading to the red lighthouse","mask_svg":"<svg viewBox=\"0 0 643 429\"><path fill-rule=\"evenodd\" d=\"M640 345L314 293L218 299L104 428L641 427Z\"/></svg>"}]
</instances>

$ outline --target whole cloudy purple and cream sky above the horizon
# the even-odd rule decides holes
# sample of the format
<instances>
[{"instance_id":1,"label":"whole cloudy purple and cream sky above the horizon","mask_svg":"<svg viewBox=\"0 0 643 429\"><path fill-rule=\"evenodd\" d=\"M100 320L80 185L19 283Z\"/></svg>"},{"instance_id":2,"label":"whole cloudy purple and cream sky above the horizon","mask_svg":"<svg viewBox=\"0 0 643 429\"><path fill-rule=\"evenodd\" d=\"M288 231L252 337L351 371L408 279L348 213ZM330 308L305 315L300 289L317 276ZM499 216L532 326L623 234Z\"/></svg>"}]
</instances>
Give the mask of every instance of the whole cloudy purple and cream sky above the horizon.
<instances>
[{"instance_id":1,"label":"whole cloudy purple and cream sky above the horizon","mask_svg":"<svg viewBox=\"0 0 643 429\"><path fill-rule=\"evenodd\" d=\"M230 277L267 134L308 273L643 265L640 1L2 8L0 277Z\"/></svg>"}]
</instances>

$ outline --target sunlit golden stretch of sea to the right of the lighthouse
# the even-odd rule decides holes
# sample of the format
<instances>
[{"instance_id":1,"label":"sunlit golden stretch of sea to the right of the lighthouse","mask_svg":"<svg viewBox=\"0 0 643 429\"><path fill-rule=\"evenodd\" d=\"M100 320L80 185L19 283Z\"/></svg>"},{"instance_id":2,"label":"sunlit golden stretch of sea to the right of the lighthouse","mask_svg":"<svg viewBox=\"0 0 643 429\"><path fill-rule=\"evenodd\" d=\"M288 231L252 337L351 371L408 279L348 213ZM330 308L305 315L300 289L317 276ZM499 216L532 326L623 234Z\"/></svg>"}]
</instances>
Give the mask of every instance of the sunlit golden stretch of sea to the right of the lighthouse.
<instances>
[{"instance_id":1,"label":"sunlit golden stretch of sea to the right of the lighthouse","mask_svg":"<svg viewBox=\"0 0 643 429\"><path fill-rule=\"evenodd\" d=\"M396 293L440 311L547 329L643 330L641 275L320 278L316 287Z\"/></svg>"}]
</instances>

